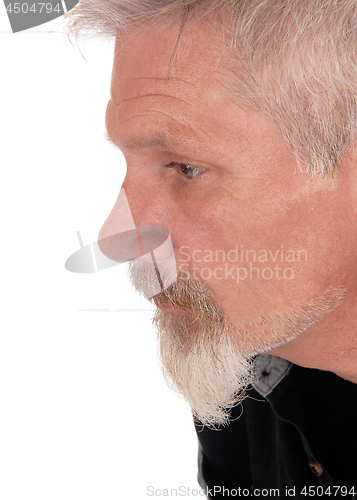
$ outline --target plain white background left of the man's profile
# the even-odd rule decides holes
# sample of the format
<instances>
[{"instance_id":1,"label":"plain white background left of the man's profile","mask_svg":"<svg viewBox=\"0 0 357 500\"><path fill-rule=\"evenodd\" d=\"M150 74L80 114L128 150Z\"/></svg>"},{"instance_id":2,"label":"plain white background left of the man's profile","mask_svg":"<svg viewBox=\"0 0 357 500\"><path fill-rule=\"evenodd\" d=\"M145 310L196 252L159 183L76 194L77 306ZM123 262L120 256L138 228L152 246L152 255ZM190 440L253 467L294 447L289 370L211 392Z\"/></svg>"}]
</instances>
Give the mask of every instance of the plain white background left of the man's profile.
<instances>
[{"instance_id":1,"label":"plain white background left of the man's profile","mask_svg":"<svg viewBox=\"0 0 357 500\"><path fill-rule=\"evenodd\" d=\"M103 138L113 47L81 44L83 59L57 21L12 34L3 3L0 21L0 498L197 493L191 414L161 376L149 303L124 266L64 268L124 177ZM80 311L95 308L123 311Z\"/></svg>"}]
</instances>

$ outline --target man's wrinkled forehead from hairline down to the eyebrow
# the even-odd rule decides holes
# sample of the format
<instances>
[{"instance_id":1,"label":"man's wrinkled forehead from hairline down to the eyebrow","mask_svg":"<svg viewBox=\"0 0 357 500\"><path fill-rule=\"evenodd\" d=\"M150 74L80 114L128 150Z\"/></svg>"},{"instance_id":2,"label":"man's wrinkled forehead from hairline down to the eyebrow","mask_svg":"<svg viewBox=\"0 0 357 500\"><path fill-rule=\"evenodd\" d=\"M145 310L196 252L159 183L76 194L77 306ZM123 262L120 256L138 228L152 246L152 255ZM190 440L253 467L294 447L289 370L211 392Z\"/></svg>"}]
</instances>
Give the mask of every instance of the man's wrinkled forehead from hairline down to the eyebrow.
<instances>
[{"instance_id":1,"label":"man's wrinkled forehead from hairline down to the eyebrow","mask_svg":"<svg viewBox=\"0 0 357 500\"><path fill-rule=\"evenodd\" d=\"M237 150L243 158L270 147L272 134L280 141L274 124L236 98L238 61L222 26L191 20L176 46L179 28L159 23L116 44L106 128L127 159L155 146L230 165Z\"/></svg>"}]
</instances>

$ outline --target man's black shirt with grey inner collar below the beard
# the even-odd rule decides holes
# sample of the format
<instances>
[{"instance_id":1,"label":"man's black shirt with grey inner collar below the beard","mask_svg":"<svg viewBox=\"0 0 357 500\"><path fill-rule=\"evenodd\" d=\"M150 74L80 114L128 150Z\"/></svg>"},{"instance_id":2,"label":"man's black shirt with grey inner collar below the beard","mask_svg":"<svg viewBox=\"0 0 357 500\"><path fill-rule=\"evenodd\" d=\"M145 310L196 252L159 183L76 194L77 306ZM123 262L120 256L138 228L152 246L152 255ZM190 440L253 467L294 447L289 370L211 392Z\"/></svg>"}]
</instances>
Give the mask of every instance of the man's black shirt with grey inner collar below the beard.
<instances>
[{"instance_id":1,"label":"man's black shirt with grey inner collar below the beard","mask_svg":"<svg viewBox=\"0 0 357 500\"><path fill-rule=\"evenodd\" d=\"M207 496L357 499L357 384L267 354L255 363L230 424L196 425Z\"/></svg>"}]
</instances>

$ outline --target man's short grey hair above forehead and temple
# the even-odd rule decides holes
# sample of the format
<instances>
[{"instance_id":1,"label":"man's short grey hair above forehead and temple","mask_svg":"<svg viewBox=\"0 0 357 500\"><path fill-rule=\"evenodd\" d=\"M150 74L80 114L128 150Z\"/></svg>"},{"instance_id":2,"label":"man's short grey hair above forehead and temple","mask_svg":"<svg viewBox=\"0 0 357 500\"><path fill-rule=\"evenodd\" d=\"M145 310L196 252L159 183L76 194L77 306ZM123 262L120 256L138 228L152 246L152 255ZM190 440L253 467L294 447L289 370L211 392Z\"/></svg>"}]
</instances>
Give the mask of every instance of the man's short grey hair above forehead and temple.
<instances>
[{"instance_id":1,"label":"man's short grey hair above forehead and temple","mask_svg":"<svg viewBox=\"0 0 357 500\"><path fill-rule=\"evenodd\" d=\"M114 38L175 19L181 33L198 11L231 19L237 95L277 122L300 171L332 173L356 131L357 0L82 0L68 31Z\"/></svg>"}]
</instances>

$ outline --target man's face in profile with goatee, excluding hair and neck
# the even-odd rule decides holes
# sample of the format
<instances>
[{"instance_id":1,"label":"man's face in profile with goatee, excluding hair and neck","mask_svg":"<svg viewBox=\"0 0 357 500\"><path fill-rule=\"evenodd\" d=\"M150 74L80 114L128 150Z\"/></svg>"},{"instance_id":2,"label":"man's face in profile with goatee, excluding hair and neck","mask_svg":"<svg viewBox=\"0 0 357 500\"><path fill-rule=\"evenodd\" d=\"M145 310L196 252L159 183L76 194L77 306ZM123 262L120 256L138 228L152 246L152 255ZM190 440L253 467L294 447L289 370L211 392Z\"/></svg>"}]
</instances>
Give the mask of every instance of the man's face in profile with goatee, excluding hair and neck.
<instances>
[{"instance_id":1,"label":"man's face in profile with goatee, excluding hair and neck","mask_svg":"<svg viewBox=\"0 0 357 500\"><path fill-rule=\"evenodd\" d=\"M306 335L338 305L350 199L342 174L297 173L278 126L234 96L238 62L218 26L191 21L172 60L177 33L159 23L117 44L106 123L135 224L167 228L174 245L178 284L154 299L165 371L217 423L248 356ZM119 231L114 209L100 237Z\"/></svg>"}]
</instances>

